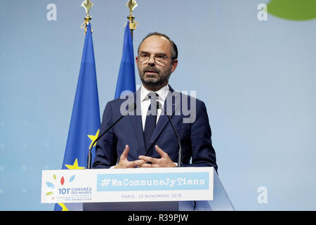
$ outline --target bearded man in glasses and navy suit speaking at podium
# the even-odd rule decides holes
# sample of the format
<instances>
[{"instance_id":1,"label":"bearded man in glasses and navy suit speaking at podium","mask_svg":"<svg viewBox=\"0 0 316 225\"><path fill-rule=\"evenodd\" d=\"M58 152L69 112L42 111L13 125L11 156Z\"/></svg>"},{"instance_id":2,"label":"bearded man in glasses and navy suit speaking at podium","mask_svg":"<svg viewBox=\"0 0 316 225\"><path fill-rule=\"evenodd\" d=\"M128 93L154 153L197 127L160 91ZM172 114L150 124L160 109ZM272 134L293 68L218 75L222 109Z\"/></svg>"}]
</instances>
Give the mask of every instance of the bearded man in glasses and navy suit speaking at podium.
<instances>
[{"instance_id":1,"label":"bearded man in glasses and navy suit speaking at podium","mask_svg":"<svg viewBox=\"0 0 316 225\"><path fill-rule=\"evenodd\" d=\"M204 103L168 84L178 65L176 44L165 34L150 33L138 47L136 63L143 84L129 96L136 103L136 115L126 115L98 141L93 168L176 167L179 144L169 115L182 146L181 166L217 170ZM117 98L107 103L100 134L122 115L124 101ZM192 117L187 118L183 105L190 108Z\"/></svg>"}]
</instances>

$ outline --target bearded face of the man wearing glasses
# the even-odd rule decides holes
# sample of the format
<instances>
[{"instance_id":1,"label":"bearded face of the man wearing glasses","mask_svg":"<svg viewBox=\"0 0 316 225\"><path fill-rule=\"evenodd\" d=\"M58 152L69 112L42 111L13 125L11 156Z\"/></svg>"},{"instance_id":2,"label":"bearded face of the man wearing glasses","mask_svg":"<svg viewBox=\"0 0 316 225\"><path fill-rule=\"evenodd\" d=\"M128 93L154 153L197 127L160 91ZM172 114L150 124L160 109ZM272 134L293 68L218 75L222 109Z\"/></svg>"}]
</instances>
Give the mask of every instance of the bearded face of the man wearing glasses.
<instances>
[{"instance_id":1,"label":"bearded face of the man wearing glasses","mask_svg":"<svg viewBox=\"0 0 316 225\"><path fill-rule=\"evenodd\" d=\"M178 60L171 63L171 44L170 41L162 36L147 37L140 45L139 55L146 53L151 56L147 63L140 61L136 57L140 80L147 86L163 86L169 81L171 73L176 70ZM158 63L154 56L166 56L164 63ZM161 65L159 65L161 64Z\"/></svg>"}]
</instances>

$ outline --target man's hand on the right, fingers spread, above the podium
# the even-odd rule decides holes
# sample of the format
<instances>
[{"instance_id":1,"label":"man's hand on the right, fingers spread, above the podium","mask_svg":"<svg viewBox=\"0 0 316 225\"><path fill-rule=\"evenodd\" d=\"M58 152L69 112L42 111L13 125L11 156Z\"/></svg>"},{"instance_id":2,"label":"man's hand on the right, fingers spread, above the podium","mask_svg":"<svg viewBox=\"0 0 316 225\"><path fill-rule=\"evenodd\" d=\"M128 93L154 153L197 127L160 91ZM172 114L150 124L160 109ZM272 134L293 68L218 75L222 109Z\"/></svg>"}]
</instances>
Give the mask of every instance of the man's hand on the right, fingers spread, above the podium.
<instances>
[{"instance_id":1,"label":"man's hand on the right, fingers spread, above the podium","mask_svg":"<svg viewBox=\"0 0 316 225\"><path fill-rule=\"evenodd\" d=\"M162 148L159 148L159 146L154 146L154 148L162 158L157 159L145 155L140 155L138 157L140 160L143 160L145 162L152 162L152 164L143 163L139 165L139 167L176 167L176 164L172 162L171 158L169 158L169 155L165 153Z\"/></svg>"}]
</instances>

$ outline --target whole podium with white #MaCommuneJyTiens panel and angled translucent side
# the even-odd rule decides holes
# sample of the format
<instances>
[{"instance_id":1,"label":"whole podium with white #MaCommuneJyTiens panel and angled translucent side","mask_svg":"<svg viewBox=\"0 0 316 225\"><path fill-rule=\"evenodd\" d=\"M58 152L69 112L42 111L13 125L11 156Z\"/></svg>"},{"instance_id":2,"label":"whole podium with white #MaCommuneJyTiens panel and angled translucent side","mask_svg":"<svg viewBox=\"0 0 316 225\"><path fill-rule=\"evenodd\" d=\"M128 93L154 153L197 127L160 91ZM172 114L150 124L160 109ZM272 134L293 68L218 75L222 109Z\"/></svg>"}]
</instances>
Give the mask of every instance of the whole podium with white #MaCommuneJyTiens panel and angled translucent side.
<instances>
[{"instance_id":1,"label":"whole podium with white #MaCommuneJyTiens panel and angled translucent side","mask_svg":"<svg viewBox=\"0 0 316 225\"><path fill-rule=\"evenodd\" d=\"M43 170L41 203L77 211L235 210L213 167Z\"/></svg>"}]
</instances>

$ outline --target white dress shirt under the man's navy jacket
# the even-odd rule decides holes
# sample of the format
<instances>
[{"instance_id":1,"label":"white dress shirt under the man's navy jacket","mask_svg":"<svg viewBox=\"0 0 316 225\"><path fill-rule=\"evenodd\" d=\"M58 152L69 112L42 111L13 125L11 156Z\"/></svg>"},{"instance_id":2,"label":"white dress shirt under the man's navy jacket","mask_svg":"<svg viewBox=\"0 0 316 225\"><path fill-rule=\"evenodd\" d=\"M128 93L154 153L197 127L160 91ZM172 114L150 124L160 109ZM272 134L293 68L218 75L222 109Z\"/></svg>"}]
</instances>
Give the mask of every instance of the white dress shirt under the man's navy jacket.
<instances>
[{"instance_id":1,"label":"white dress shirt under the man's navy jacket","mask_svg":"<svg viewBox=\"0 0 316 225\"><path fill-rule=\"evenodd\" d=\"M150 106L150 98L148 98L148 94L150 94L152 92L155 92L156 94L158 94L157 101L159 101L159 103L162 105L162 107L164 107L164 101L166 100L166 96L168 96L168 92L169 92L169 85L167 84L166 86L163 86L158 91L150 91L150 90L146 89L145 86L143 86L143 84L140 87L140 109L141 109L141 113L142 113L143 131L145 129L147 110L148 110L148 107ZM156 124L159 120L160 114L162 114L162 110L157 109Z\"/></svg>"}]
</instances>

